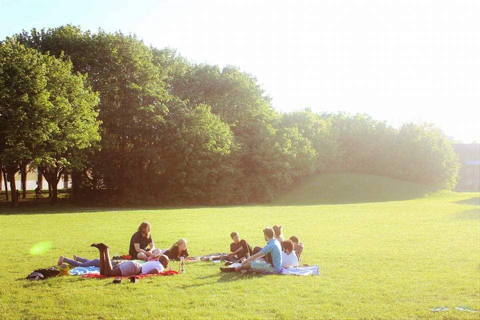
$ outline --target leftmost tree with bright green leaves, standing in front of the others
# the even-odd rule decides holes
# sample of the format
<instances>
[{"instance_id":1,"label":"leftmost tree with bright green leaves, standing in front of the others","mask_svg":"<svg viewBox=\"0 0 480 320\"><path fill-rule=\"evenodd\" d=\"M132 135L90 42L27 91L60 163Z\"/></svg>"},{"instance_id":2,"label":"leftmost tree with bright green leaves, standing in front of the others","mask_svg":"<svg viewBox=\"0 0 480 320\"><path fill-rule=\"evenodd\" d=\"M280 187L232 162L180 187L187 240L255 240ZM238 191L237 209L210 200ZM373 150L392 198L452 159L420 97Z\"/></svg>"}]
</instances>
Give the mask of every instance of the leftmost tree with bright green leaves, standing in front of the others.
<instances>
[{"instance_id":1,"label":"leftmost tree with bright green leaves, standing in front of the others","mask_svg":"<svg viewBox=\"0 0 480 320\"><path fill-rule=\"evenodd\" d=\"M9 176L14 205L14 174L22 165L55 159L67 146L84 148L84 139L95 139L98 123L92 108L97 96L71 68L70 62L15 40L0 44L0 162ZM88 137L82 140L81 135Z\"/></svg>"}]
</instances>

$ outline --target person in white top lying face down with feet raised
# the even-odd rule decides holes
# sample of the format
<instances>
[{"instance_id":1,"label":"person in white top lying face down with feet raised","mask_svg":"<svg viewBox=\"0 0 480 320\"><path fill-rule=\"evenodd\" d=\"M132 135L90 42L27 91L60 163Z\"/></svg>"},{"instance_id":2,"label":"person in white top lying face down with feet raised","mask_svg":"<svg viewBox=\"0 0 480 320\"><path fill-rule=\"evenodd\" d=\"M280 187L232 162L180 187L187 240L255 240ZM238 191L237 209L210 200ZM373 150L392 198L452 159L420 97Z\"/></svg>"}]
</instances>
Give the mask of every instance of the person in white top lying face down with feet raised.
<instances>
[{"instance_id":1,"label":"person in white top lying face down with feet raised","mask_svg":"<svg viewBox=\"0 0 480 320\"><path fill-rule=\"evenodd\" d=\"M156 274L163 271L168 266L168 257L164 254L160 254L155 261L140 262L135 260L123 261L111 266L110 261L110 248L104 243L92 243L90 246L94 246L100 252L100 274L105 276L131 276L141 273Z\"/></svg>"}]
</instances>

